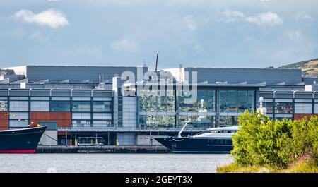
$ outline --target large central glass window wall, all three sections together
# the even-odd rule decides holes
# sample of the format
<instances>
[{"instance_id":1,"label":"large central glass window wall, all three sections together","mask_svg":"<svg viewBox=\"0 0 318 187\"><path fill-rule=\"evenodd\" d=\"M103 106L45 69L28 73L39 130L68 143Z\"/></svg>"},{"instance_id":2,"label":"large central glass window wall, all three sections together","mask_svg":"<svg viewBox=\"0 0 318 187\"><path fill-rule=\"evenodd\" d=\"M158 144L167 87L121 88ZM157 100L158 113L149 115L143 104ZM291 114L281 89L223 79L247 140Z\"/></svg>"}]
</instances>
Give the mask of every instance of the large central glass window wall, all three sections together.
<instances>
[{"instance_id":1,"label":"large central glass window wall, all three sections together","mask_svg":"<svg viewBox=\"0 0 318 187\"><path fill-rule=\"evenodd\" d=\"M220 120L216 121L216 108L220 107L220 113L239 113L254 111L255 109L255 90L220 90L220 104L217 103L216 89L199 88L195 102L187 96L186 92L182 96L169 99L165 96L153 95L157 92L140 92L139 96L139 126L141 127L177 127L181 128L187 119L192 119L193 128L209 128L215 126L231 126L237 124L237 114L221 115ZM175 107L168 107L169 104ZM175 105L174 105L175 104ZM171 109L171 110L170 110ZM176 112L166 113L168 111ZM156 115L154 115L154 112ZM177 114L179 112L179 115ZM200 115L207 113L206 115ZM208 114L210 113L210 114Z\"/></svg>"}]
</instances>

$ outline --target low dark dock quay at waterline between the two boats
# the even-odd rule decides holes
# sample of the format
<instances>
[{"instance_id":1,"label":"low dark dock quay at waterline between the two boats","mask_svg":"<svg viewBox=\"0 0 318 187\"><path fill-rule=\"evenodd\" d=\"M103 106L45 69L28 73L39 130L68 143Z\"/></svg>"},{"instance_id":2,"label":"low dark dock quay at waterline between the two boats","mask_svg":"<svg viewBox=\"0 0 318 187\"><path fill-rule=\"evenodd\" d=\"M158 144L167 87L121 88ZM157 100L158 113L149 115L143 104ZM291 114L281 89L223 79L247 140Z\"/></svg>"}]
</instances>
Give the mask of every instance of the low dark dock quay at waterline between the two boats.
<instances>
[{"instance_id":1,"label":"low dark dock quay at waterline between the two boats","mask_svg":"<svg viewBox=\"0 0 318 187\"><path fill-rule=\"evenodd\" d=\"M162 145L99 145L99 146L65 146L54 145L37 147L37 153L170 153Z\"/></svg>"}]
</instances>

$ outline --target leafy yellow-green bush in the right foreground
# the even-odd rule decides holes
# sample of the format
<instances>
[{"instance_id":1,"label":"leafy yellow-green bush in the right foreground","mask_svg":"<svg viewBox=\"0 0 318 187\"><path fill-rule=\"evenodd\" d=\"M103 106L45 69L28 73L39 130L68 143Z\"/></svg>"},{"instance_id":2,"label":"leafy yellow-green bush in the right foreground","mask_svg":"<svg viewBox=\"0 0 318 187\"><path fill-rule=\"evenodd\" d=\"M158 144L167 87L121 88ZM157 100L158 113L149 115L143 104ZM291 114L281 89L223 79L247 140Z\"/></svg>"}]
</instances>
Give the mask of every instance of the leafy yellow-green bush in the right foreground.
<instances>
[{"instance_id":1,"label":"leafy yellow-green bush in the right foreground","mask_svg":"<svg viewBox=\"0 0 318 187\"><path fill-rule=\"evenodd\" d=\"M241 114L240 130L233 135L232 155L240 166L269 165L287 167L306 154L318 157L318 117L310 121L271 120L268 116L248 111Z\"/></svg>"}]
</instances>

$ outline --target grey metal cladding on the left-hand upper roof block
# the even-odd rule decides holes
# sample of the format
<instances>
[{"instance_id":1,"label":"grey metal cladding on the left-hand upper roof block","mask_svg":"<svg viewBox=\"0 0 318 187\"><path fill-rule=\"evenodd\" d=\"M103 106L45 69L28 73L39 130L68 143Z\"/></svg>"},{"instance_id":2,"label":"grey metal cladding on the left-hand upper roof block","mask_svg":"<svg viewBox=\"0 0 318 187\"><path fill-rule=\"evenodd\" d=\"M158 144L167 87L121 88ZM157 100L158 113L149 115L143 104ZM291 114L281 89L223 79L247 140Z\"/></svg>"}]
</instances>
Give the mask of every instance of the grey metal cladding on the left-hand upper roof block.
<instances>
[{"instance_id":1,"label":"grey metal cladding on the left-hand upper roof block","mask_svg":"<svg viewBox=\"0 0 318 187\"><path fill-rule=\"evenodd\" d=\"M147 67L142 67L143 72ZM99 83L99 78L103 77L105 82L112 83L114 74L121 75L124 71L137 73L137 67L117 67L117 66L27 66L26 76L30 82L49 80L49 82L59 82L69 80L69 82Z\"/></svg>"}]
</instances>

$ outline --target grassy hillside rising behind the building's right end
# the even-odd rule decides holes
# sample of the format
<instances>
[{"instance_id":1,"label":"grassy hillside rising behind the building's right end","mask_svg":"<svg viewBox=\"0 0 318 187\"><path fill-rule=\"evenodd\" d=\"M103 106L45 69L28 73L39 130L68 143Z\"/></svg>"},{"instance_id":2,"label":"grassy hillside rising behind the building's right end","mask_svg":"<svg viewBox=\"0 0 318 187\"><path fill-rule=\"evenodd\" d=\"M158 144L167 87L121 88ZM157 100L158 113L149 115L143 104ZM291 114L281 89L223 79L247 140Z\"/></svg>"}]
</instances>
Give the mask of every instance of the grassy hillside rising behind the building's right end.
<instances>
[{"instance_id":1,"label":"grassy hillside rising behind the building's right end","mask_svg":"<svg viewBox=\"0 0 318 187\"><path fill-rule=\"evenodd\" d=\"M302 76L307 78L318 78L318 59L300 61L279 68L300 68L302 69Z\"/></svg>"}]
</instances>

